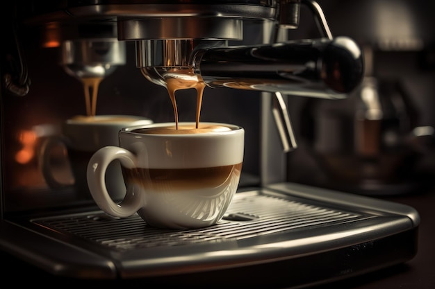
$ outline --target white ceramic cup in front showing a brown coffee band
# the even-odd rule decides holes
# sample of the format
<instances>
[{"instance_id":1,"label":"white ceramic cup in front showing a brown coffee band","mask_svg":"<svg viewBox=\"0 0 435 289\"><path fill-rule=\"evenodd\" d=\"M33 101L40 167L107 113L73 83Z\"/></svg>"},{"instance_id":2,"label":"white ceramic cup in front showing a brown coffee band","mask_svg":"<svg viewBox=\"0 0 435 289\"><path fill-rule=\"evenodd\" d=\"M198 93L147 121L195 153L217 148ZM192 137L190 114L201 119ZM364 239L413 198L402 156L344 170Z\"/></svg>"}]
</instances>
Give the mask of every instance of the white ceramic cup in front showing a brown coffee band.
<instances>
[{"instance_id":1,"label":"white ceramic cup in front showing a brown coffee band","mask_svg":"<svg viewBox=\"0 0 435 289\"><path fill-rule=\"evenodd\" d=\"M165 130L160 130L166 128ZM206 130L206 131L204 131ZM154 227L173 229L214 225L238 188L245 130L224 123L154 123L124 128L120 146L101 148L88 164L88 186L97 205L111 216L136 212ZM114 160L122 166L126 194L110 198L105 173Z\"/></svg>"}]
</instances>

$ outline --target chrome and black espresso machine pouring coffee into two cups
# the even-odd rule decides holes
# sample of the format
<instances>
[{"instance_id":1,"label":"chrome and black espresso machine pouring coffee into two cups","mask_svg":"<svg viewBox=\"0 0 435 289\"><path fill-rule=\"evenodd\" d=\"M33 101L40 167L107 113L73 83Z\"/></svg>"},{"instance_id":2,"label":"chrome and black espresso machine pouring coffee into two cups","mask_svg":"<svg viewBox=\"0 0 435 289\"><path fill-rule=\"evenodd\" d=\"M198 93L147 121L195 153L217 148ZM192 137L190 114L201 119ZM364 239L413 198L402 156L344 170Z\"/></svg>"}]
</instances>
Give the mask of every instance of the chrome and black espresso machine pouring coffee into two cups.
<instances>
[{"instance_id":1,"label":"chrome and black espresso machine pouring coffee into two cups","mask_svg":"<svg viewBox=\"0 0 435 289\"><path fill-rule=\"evenodd\" d=\"M315 39L288 39L301 7ZM220 287L237 277L257 288L267 276L300 288L416 254L415 209L287 182L286 155L297 148L288 98L338 102L364 75L359 44L334 37L315 1L23 0L3 11L0 248L38 278ZM206 84L202 121L246 130L239 191L222 222L155 229L44 184L35 150L56 130L40 128L83 113L76 78L104 78L97 114L172 121L165 83L186 77L174 68ZM188 91L177 97L180 118L191 117Z\"/></svg>"}]
</instances>

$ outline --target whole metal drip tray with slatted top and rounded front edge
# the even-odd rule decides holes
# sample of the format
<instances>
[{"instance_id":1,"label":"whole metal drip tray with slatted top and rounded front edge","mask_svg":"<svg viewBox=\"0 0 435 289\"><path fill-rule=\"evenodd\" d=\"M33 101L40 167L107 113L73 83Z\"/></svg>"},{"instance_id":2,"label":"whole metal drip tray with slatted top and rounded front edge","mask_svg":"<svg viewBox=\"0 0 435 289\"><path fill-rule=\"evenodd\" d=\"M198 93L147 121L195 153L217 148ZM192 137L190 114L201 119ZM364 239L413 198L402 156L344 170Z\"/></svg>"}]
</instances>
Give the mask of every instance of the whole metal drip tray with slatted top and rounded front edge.
<instances>
[{"instance_id":1,"label":"whole metal drip tray with slatted top and rounded front edge","mask_svg":"<svg viewBox=\"0 0 435 289\"><path fill-rule=\"evenodd\" d=\"M156 229L101 211L34 218L32 231L51 245L31 257L39 252L50 274L74 279L220 287L237 278L255 288L267 274L303 287L412 259L418 223L402 204L284 183L239 191L224 218L202 229Z\"/></svg>"}]
</instances>

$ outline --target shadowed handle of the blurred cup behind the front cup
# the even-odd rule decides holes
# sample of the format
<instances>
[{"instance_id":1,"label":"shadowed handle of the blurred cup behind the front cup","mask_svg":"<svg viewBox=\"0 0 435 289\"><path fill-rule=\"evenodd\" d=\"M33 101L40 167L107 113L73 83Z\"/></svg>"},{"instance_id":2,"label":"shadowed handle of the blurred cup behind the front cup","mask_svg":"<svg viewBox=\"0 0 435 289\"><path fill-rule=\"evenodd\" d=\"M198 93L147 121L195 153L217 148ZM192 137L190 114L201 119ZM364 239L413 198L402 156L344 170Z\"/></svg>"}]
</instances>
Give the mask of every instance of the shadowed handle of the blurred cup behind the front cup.
<instances>
[{"instance_id":1,"label":"shadowed handle of the blurred cup behind the front cup","mask_svg":"<svg viewBox=\"0 0 435 289\"><path fill-rule=\"evenodd\" d=\"M51 189L63 189L72 185L60 182L58 179L56 179L56 177L54 177L53 175L53 168L51 168L50 164L50 154L54 150L54 147L60 146L67 150L66 143L67 139L65 139L64 137L47 137L47 139L44 139L44 141L42 141L40 150L38 151L38 166L40 168L42 176L44 177L45 182L49 185ZM69 164L67 157L66 161ZM71 171L71 168L69 168L69 170Z\"/></svg>"}]
</instances>

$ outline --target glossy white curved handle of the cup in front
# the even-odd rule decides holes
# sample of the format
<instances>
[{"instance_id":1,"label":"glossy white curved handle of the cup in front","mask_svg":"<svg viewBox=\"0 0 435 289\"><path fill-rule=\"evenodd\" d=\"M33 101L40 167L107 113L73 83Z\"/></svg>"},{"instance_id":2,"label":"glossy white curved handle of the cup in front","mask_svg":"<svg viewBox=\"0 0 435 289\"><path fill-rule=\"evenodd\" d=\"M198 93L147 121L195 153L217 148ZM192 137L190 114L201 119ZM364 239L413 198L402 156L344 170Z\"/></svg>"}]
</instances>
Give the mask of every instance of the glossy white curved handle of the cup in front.
<instances>
[{"instance_id":1,"label":"glossy white curved handle of the cup in front","mask_svg":"<svg viewBox=\"0 0 435 289\"><path fill-rule=\"evenodd\" d=\"M92 155L88 163L87 178L92 198L98 207L111 216L126 218L132 216L142 207L142 195L127 189L124 200L119 204L110 197L105 181L108 165L115 159L125 168L136 168L136 155L117 146L100 148Z\"/></svg>"}]
</instances>

